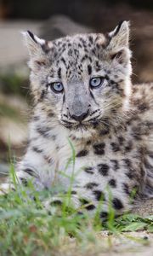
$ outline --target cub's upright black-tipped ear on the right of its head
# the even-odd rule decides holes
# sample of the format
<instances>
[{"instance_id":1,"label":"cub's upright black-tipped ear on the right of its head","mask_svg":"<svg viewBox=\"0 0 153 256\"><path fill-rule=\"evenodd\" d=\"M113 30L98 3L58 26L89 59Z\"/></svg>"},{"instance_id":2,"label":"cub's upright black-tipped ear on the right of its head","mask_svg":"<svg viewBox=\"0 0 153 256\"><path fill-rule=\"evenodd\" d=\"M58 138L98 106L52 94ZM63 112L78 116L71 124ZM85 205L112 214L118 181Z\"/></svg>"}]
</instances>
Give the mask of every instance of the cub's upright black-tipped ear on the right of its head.
<instances>
[{"instance_id":1,"label":"cub's upright black-tipped ear on the right of its head","mask_svg":"<svg viewBox=\"0 0 153 256\"><path fill-rule=\"evenodd\" d=\"M122 49L122 47L128 48L129 21L121 21L108 36L110 38L110 43L108 44L109 49Z\"/></svg>"}]
</instances>

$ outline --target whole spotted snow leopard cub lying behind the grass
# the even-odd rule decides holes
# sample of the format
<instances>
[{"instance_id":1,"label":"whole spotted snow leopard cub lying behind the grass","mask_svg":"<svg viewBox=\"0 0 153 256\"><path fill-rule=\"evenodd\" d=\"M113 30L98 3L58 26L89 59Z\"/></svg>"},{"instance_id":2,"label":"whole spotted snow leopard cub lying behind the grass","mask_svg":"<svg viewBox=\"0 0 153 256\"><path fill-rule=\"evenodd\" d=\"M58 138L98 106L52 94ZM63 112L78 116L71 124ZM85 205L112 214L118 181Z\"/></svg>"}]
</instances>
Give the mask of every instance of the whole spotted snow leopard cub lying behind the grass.
<instances>
[{"instance_id":1,"label":"whole spotted snow leopard cub lying behind the grass","mask_svg":"<svg viewBox=\"0 0 153 256\"><path fill-rule=\"evenodd\" d=\"M77 34L48 42L24 33L30 53L33 115L29 145L17 176L39 189L70 186L71 202L101 217L108 206L129 209L153 193L153 84L131 84L128 22L107 33ZM61 172L65 172L65 176ZM7 187L3 185L3 187ZM109 188L109 189L108 189ZM110 192L111 191L111 192ZM135 197L137 200L137 196ZM60 203L60 197L51 198Z\"/></svg>"}]
</instances>

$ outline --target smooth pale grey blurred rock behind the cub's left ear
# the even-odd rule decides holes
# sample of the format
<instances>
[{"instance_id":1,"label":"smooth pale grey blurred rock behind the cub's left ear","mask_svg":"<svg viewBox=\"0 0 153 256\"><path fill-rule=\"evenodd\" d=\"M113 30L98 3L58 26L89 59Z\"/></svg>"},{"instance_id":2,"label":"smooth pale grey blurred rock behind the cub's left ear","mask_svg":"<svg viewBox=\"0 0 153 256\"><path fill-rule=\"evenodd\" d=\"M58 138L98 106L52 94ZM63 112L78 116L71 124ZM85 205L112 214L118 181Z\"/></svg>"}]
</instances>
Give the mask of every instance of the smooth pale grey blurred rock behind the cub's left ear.
<instances>
[{"instance_id":1,"label":"smooth pale grey blurred rock behind the cub's left ear","mask_svg":"<svg viewBox=\"0 0 153 256\"><path fill-rule=\"evenodd\" d=\"M39 33L40 22L20 20L1 21L0 23L0 73L8 67L24 62L26 65L27 49L20 32L31 30Z\"/></svg>"}]
</instances>

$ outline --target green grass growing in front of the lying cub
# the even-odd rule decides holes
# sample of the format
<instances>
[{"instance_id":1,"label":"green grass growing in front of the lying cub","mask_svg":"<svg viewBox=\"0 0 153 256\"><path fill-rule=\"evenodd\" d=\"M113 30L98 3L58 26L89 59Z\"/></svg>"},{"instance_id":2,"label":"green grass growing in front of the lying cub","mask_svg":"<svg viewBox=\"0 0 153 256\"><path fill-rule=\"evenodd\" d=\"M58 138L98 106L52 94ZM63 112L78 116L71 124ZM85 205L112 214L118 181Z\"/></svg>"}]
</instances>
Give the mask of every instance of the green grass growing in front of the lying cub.
<instances>
[{"instance_id":1,"label":"green grass growing in front of the lying cub","mask_svg":"<svg viewBox=\"0 0 153 256\"><path fill-rule=\"evenodd\" d=\"M71 143L70 146L73 154L67 165L72 163L74 170L75 151ZM141 218L127 213L115 218L111 204L108 219L102 223L99 218L102 201L93 218L85 209L79 215L70 203L74 172L70 189L62 195L65 199L63 206L53 206L51 215L42 206L42 201L54 195L54 189L37 191L31 182L26 187L20 186L13 163L9 175L16 190L0 196L0 255L64 255L67 248L71 248L71 252L74 250L73 255L84 255L91 251L91 247L94 247L94 253L96 248L103 247L103 241L99 245L97 240L101 230L118 236L135 230L153 232L153 215ZM110 191L109 195L111 199ZM109 244L111 246L111 240Z\"/></svg>"}]
</instances>

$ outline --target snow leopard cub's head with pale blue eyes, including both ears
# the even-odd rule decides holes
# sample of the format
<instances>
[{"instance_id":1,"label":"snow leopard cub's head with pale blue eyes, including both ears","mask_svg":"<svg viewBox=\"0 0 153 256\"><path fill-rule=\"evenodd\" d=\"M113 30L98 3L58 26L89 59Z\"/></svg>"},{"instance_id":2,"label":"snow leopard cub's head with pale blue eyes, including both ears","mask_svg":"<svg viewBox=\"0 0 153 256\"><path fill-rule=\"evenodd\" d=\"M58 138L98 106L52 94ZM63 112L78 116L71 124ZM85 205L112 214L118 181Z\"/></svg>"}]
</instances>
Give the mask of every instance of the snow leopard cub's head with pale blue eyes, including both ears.
<instances>
[{"instance_id":1,"label":"snow leopard cub's head with pale blue eyes, including both ears","mask_svg":"<svg viewBox=\"0 0 153 256\"><path fill-rule=\"evenodd\" d=\"M47 42L26 32L35 103L80 137L105 133L130 94L128 23L113 32Z\"/></svg>"}]
</instances>

